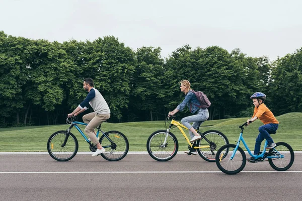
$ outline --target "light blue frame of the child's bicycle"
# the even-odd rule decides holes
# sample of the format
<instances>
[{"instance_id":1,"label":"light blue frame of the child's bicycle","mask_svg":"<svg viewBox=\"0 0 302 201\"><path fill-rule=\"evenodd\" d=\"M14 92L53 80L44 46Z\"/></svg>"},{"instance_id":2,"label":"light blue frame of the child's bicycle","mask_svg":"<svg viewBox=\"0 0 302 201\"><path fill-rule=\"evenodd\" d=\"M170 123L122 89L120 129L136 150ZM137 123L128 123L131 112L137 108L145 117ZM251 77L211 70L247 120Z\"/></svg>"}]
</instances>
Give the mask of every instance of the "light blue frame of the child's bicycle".
<instances>
[{"instance_id":1,"label":"light blue frame of the child's bicycle","mask_svg":"<svg viewBox=\"0 0 302 201\"><path fill-rule=\"evenodd\" d=\"M232 153L232 156L231 156L231 160L235 157L235 153L240 145L240 142L242 141L243 145L245 146L245 148L247 149L248 153L250 154L250 156L254 157L255 159L258 159L258 158L262 158L265 154L265 148L267 147L267 141L265 140L265 143L264 143L264 147L263 147L263 151L260 155L254 155L252 154L251 150L249 149L247 143L245 142L244 138L243 138L243 126L245 126L245 124L243 124L242 126L240 126L239 128L241 128L241 132L240 132L240 135L239 135L239 138L238 138L238 141L237 141L237 144L236 144L236 147ZM275 148L273 148L274 151L276 151L278 154L280 154ZM221 160L221 157L223 156L223 154L221 154L220 156L220 160ZM284 155L280 154L279 156L265 156L265 158L284 158Z\"/></svg>"}]
</instances>

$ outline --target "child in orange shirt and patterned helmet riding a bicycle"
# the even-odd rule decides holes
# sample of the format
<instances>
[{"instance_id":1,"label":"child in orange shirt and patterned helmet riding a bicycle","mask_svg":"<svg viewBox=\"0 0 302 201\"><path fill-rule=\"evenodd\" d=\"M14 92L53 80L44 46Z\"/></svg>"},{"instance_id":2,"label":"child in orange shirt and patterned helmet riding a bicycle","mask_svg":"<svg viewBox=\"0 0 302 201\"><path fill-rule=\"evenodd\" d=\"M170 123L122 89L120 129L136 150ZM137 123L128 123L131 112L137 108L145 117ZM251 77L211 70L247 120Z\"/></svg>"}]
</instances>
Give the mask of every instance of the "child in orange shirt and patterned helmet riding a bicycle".
<instances>
[{"instance_id":1,"label":"child in orange shirt and patterned helmet riding a bicycle","mask_svg":"<svg viewBox=\"0 0 302 201\"><path fill-rule=\"evenodd\" d=\"M264 125L259 127L259 135L256 138L254 155L257 155L260 151L261 142L266 139L268 145L266 149L271 149L276 146L270 134L275 133L278 129L279 122L273 115L273 113L265 106L264 100L266 99L266 95L261 92L254 93L251 97L253 100L254 114L251 119L247 121L248 125L251 122L259 119ZM255 158L249 158L250 162L255 162Z\"/></svg>"}]
</instances>

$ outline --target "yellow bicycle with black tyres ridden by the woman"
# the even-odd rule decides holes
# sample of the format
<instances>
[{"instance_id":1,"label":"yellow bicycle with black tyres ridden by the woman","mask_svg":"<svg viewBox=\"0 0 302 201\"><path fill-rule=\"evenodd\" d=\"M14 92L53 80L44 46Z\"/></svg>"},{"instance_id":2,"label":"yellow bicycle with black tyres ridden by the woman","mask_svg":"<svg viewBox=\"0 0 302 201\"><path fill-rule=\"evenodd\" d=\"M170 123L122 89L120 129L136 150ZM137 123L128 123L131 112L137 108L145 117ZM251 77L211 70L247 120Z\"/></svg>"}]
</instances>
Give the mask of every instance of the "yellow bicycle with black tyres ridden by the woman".
<instances>
[{"instance_id":1,"label":"yellow bicycle with black tyres ridden by the woman","mask_svg":"<svg viewBox=\"0 0 302 201\"><path fill-rule=\"evenodd\" d=\"M168 120L169 117L167 117L165 125L167 125ZM226 138L223 133L215 130L209 130L201 133L199 128L197 129L197 133L200 134L201 139L193 142L192 144L182 129L184 128L188 130L188 128L175 121L175 116L173 116L169 128L166 126L167 130L156 131L151 134L147 140L147 151L155 160L168 161L176 155L178 151L178 140L176 136L170 132L170 129L173 127L177 127L187 140L190 150L188 155L191 155L192 151L197 150L201 158L209 162L215 162L217 150L223 145L229 144L228 138Z\"/></svg>"}]
</instances>

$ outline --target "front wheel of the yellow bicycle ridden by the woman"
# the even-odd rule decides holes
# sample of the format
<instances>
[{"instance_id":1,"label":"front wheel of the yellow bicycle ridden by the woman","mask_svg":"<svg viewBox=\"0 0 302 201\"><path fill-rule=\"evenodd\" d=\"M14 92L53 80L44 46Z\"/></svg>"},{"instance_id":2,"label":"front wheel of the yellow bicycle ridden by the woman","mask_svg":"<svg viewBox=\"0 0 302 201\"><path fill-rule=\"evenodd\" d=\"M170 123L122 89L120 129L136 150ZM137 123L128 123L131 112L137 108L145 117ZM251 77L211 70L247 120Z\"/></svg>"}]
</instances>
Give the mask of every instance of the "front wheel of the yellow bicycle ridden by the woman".
<instances>
[{"instance_id":1,"label":"front wheel of the yellow bicycle ridden by the woman","mask_svg":"<svg viewBox=\"0 0 302 201\"><path fill-rule=\"evenodd\" d=\"M147 140L147 151L155 160L171 160L178 151L178 141L173 133L169 132L167 141L164 144L166 133L166 130L156 131Z\"/></svg>"}]
</instances>

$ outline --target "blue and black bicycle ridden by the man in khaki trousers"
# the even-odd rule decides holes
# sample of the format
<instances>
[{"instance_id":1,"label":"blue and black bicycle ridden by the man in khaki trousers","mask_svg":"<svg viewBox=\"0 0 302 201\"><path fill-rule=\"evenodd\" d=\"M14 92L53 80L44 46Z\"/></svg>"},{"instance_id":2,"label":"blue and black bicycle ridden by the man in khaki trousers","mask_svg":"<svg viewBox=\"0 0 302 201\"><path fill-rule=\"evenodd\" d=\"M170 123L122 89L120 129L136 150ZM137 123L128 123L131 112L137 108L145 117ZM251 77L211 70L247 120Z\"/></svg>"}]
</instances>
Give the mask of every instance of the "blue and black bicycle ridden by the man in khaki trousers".
<instances>
[{"instance_id":1,"label":"blue and black bicycle ridden by the man in khaki trousers","mask_svg":"<svg viewBox=\"0 0 302 201\"><path fill-rule=\"evenodd\" d=\"M90 145L89 149L96 152L97 146L92 144L86 135L79 128L78 124L87 124L74 121L75 117L67 118L66 123L70 124L66 131L57 131L53 133L47 142L47 151L49 155L57 161L68 161L77 154L79 143L77 138L70 132L72 127L75 127ZM101 125L97 127L97 137L102 133L99 142L105 148L105 153L100 154L103 158L109 161L118 161L124 158L129 150L129 142L124 134L119 131L104 132L101 130Z\"/></svg>"}]
</instances>

